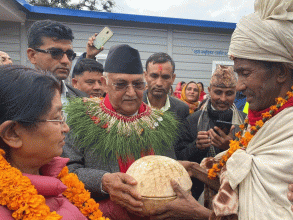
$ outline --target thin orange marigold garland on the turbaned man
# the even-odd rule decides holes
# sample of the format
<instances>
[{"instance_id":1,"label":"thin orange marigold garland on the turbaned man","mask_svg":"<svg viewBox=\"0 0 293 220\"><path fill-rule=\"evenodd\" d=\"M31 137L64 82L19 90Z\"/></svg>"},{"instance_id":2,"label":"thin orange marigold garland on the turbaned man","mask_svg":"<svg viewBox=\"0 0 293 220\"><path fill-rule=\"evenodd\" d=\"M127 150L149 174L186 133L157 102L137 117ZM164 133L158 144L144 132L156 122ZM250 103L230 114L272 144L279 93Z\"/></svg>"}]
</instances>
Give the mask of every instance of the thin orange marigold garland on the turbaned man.
<instances>
[{"instance_id":1,"label":"thin orange marigold garland on the turbaned man","mask_svg":"<svg viewBox=\"0 0 293 220\"><path fill-rule=\"evenodd\" d=\"M291 87L293 90L293 86ZM250 140L254 137L257 131L264 125L266 121L272 118L275 113L282 107L291 97L293 97L293 92L288 91L286 93L286 98L276 98L276 105L270 107L268 112L262 114L262 120L259 120L255 123L255 126L250 128L250 131L246 131L248 127L248 119L245 119L244 124L240 125L240 131L236 133L236 139L231 140L229 144L229 149L226 154L220 159L218 163L213 164L213 167L208 171L208 178L215 179L217 177L217 173L219 173L223 166L226 165L227 160L231 157L231 155L238 149L246 149Z\"/></svg>"}]
</instances>

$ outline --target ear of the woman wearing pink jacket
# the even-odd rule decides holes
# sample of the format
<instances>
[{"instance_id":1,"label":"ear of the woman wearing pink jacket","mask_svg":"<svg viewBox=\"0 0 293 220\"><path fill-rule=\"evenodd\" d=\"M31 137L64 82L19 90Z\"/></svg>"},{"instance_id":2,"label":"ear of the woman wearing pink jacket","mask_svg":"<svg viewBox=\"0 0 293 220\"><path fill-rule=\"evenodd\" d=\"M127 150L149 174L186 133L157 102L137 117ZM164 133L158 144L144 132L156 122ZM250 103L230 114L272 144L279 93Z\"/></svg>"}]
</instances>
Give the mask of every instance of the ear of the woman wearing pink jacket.
<instances>
[{"instance_id":1,"label":"ear of the woman wearing pink jacket","mask_svg":"<svg viewBox=\"0 0 293 220\"><path fill-rule=\"evenodd\" d=\"M14 121L5 121L0 125L0 136L2 140L12 148L20 148L22 139L19 134L23 129L20 124Z\"/></svg>"}]
</instances>

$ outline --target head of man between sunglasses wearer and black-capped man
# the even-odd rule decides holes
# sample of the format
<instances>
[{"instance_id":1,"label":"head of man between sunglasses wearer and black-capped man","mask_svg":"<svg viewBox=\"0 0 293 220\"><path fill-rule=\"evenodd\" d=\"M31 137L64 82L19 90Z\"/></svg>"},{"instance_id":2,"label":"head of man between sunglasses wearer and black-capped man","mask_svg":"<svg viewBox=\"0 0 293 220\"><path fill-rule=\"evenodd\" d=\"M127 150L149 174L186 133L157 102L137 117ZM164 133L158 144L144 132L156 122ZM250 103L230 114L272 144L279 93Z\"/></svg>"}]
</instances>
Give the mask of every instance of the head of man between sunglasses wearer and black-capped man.
<instances>
[{"instance_id":1,"label":"head of man between sunglasses wearer and black-capped man","mask_svg":"<svg viewBox=\"0 0 293 220\"><path fill-rule=\"evenodd\" d=\"M81 59L72 72L72 86L86 93L89 97L104 97L101 77L103 65L94 59Z\"/></svg>"}]
</instances>

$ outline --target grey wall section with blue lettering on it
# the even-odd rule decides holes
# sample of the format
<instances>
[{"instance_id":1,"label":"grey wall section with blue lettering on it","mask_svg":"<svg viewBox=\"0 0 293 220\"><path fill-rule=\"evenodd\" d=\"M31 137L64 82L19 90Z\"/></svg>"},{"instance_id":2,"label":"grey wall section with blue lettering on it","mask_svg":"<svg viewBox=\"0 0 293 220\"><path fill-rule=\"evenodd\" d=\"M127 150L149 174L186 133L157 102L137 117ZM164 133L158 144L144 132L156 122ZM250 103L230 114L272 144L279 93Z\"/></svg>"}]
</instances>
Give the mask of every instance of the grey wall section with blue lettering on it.
<instances>
[{"instance_id":1,"label":"grey wall section with blue lettering on it","mask_svg":"<svg viewBox=\"0 0 293 220\"><path fill-rule=\"evenodd\" d=\"M230 38L229 34L174 31L173 59L176 63L174 84L193 80L201 81L207 87L212 74L213 61L229 61L227 52Z\"/></svg>"}]
</instances>

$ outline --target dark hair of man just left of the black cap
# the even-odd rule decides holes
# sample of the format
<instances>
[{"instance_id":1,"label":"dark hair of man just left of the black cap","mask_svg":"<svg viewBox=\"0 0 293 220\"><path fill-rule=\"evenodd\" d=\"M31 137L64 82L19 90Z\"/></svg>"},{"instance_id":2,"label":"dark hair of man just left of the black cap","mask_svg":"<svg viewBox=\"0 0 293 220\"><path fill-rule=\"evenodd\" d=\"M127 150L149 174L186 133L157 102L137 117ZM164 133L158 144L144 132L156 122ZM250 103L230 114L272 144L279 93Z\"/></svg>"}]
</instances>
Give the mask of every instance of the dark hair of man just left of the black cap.
<instances>
[{"instance_id":1,"label":"dark hair of man just left of the black cap","mask_svg":"<svg viewBox=\"0 0 293 220\"><path fill-rule=\"evenodd\" d=\"M72 72L72 78L82 75L85 71L103 73L103 65L93 59L81 59L75 66Z\"/></svg>"}]
</instances>

